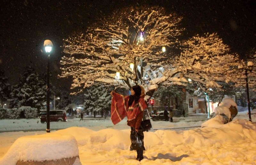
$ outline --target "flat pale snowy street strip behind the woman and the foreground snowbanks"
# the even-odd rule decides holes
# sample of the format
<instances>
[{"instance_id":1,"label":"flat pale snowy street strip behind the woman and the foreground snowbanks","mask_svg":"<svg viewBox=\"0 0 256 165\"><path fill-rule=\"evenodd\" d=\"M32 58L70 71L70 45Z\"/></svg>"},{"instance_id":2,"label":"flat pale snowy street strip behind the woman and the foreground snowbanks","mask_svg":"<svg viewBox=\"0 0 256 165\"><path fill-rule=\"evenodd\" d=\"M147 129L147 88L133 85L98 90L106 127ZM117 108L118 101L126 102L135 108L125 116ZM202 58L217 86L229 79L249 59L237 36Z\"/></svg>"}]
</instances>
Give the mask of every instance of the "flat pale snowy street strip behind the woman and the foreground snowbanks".
<instances>
[{"instance_id":1,"label":"flat pale snowy street strip behind the woman and the foreground snowbanks","mask_svg":"<svg viewBox=\"0 0 256 165\"><path fill-rule=\"evenodd\" d=\"M113 128L117 130L126 129L126 120L124 119L117 125L113 125L111 120L108 119L94 119L84 118L84 121L79 121L80 118L68 119L68 122L50 122L50 128L65 129L69 127L87 127L91 130L101 130L106 128ZM206 114L190 115L189 117L174 117L173 123L165 121L153 122L156 128L173 128L173 127L189 127L189 126L200 126L202 122L192 121L204 121L207 120ZM181 121L181 122L179 122ZM176 123L175 123L176 122ZM178 123L177 123L178 122ZM189 123L187 123L189 122ZM4 131L17 131L17 130L45 130L46 123L42 124L40 119L4 119L0 120L0 132Z\"/></svg>"}]
</instances>

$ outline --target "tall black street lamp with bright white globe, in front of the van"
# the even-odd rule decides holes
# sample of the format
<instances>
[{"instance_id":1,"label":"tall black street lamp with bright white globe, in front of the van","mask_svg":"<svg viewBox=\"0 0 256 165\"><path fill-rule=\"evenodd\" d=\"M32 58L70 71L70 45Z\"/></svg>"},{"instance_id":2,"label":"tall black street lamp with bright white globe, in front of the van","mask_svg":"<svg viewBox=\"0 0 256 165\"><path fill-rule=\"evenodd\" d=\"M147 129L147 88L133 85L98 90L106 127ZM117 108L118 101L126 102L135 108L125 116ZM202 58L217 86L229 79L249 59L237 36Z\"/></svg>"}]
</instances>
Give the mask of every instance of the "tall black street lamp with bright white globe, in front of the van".
<instances>
[{"instance_id":1,"label":"tall black street lamp with bright white globe, in front of the van","mask_svg":"<svg viewBox=\"0 0 256 165\"><path fill-rule=\"evenodd\" d=\"M47 109L46 109L46 132L50 132L50 52L52 51L52 41L50 40L45 40L44 41L44 49L45 52L48 55L47 59L47 85L46 85L46 90L47 90L47 99L46 99L46 104L47 104Z\"/></svg>"}]
</instances>

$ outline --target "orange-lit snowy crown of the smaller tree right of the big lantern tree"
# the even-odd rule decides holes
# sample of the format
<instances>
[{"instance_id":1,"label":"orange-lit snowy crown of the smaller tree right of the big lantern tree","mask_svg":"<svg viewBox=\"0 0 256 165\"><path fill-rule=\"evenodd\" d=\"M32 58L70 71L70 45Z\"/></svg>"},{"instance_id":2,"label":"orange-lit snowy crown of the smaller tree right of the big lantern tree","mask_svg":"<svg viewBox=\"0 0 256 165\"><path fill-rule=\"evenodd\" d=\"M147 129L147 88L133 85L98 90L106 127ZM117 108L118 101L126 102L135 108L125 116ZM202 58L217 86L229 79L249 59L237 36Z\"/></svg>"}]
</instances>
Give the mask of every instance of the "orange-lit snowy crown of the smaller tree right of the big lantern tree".
<instances>
[{"instance_id":1,"label":"orange-lit snowy crown of the smaller tree right of the big lantern tree","mask_svg":"<svg viewBox=\"0 0 256 165\"><path fill-rule=\"evenodd\" d=\"M185 49L173 61L180 75L191 79L203 90L221 88L218 82L228 83L237 74L238 55L230 53L228 45L216 34L196 35L184 43Z\"/></svg>"}]
</instances>

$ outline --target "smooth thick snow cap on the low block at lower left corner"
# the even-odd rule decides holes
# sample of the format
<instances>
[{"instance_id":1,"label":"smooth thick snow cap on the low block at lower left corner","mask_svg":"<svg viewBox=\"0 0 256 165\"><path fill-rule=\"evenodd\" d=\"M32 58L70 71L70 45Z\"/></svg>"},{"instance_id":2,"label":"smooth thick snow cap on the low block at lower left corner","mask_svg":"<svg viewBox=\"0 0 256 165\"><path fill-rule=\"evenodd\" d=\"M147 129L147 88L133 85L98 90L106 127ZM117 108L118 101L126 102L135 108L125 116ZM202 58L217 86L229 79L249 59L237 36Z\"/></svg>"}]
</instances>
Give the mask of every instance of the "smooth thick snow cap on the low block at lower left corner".
<instances>
[{"instance_id":1,"label":"smooth thick snow cap on the low block at lower left corner","mask_svg":"<svg viewBox=\"0 0 256 165\"><path fill-rule=\"evenodd\" d=\"M15 165L17 161L44 161L70 158L78 155L78 145L72 135L24 136L10 147L0 164Z\"/></svg>"}]
</instances>

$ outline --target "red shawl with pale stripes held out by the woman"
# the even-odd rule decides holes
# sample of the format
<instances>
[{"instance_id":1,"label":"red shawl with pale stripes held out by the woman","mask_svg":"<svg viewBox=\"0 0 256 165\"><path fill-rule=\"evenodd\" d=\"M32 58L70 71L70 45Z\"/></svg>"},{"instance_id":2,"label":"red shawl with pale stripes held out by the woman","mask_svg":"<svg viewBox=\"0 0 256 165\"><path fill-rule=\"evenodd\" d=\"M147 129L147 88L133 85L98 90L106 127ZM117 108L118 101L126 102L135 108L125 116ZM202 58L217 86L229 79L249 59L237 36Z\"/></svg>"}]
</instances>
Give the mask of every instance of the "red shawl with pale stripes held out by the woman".
<instances>
[{"instance_id":1,"label":"red shawl with pale stripes held out by the woman","mask_svg":"<svg viewBox=\"0 0 256 165\"><path fill-rule=\"evenodd\" d=\"M143 97L140 97L138 104L133 101L132 106L128 107L128 100L130 96L123 96L116 92L113 92L111 102L111 120L113 124L117 124L127 116L127 120L135 119L140 113L147 108L147 104Z\"/></svg>"}]
</instances>

